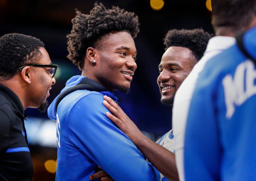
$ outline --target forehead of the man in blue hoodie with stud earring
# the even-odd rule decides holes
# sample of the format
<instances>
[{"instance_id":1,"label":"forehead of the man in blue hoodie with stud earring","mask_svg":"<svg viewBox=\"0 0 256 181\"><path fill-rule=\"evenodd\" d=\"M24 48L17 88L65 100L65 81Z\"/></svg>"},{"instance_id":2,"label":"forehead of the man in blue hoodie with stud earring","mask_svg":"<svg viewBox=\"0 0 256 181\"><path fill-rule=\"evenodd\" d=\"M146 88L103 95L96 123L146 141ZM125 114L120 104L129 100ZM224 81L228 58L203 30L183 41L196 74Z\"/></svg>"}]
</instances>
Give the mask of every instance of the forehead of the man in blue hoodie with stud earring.
<instances>
[{"instance_id":1,"label":"forehead of the man in blue hoodie with stud earring","mask_svg":"<svg viewBox=\"0 0 256 181\"><path fill-rule=\"evenodd\" d=\"M127 32L111 32L102 39L103 49L114 50L119 47L128 47L130 49L136 49L135 43L131 35ZM136 51L136 50L135 50Z\"/></svg>"}]
</instances>

